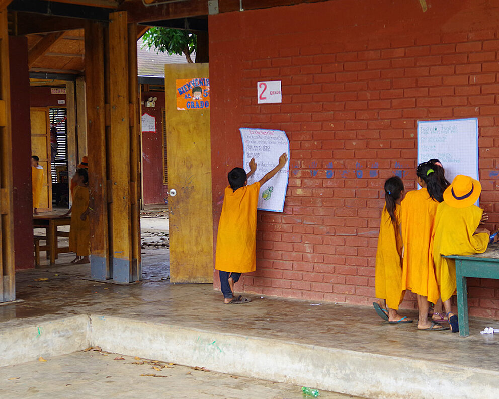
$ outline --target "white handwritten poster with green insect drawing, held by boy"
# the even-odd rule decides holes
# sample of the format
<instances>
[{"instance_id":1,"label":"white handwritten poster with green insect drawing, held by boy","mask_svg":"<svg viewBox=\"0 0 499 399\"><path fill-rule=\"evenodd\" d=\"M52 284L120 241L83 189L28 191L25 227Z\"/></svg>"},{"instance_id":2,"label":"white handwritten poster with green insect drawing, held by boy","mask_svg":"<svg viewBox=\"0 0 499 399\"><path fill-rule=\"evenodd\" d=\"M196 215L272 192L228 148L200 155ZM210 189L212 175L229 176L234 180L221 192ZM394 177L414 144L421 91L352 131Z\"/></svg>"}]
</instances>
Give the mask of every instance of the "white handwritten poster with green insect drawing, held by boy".
<instances>
[{"instance_id":1,"label":"white handwritten poster with green insect drawing, held by boy","mask_svg":"<svg viewBox=\"0 0 499 399\"><path fill-rule=\"evenodd\" d=\"M249 161L255 158L256 172L248 184L258 182L279 163L279 157L286 153L288 162L272 179L260 187L258 209L271 212L284 210L284 198L289 178L289 140L282 130L240 128L244 151L244 169L249 172Z\"/></svg>"}]
</instances>

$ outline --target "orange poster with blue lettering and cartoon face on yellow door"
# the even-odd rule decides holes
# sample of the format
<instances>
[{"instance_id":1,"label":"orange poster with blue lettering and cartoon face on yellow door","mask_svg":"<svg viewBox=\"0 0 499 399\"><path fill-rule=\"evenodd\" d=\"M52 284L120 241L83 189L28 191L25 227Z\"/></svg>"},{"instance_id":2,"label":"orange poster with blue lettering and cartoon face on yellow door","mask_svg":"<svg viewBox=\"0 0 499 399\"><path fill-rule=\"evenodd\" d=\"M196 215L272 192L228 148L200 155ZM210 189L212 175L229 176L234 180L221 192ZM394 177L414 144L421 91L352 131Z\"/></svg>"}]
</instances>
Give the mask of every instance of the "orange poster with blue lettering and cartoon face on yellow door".
<instances>
[{"instance_id":1,"label":"orange poster with blue lettering and cartoon face on yellow door","mask_svg":"<svg viewBox=\"0 0 499 399\"><path fill-rule=\"evenodd\" d=\"M177 109L206 109L210 108L210 79L177 79Z\"/></svg>"}]
</instances>

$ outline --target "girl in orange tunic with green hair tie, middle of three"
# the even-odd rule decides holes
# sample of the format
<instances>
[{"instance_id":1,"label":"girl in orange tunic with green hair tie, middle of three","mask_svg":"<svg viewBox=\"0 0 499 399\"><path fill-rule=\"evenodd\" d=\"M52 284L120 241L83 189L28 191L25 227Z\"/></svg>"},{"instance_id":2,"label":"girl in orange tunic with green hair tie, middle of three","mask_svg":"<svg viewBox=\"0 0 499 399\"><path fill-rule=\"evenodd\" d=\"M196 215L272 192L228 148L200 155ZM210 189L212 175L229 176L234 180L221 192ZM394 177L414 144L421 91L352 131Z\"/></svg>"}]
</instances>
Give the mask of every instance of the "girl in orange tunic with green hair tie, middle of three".
<instances>
[{"instance_id":1,"label":"girl in orange tunic with green hair tie, middle of three","mask_svg":"<svg viewBox=\"0 0 499 399\"><path fill-rule=\"evenodd\" d=\"M435 213L444 192L436 168L440 167L431 162L418 165L421 189L408 192L402 201L402 290L409 289L417 296L419 330L448 330L428 320L428 301L435 303L440 297L430 250Z\"/></svg>"}]
</instances>

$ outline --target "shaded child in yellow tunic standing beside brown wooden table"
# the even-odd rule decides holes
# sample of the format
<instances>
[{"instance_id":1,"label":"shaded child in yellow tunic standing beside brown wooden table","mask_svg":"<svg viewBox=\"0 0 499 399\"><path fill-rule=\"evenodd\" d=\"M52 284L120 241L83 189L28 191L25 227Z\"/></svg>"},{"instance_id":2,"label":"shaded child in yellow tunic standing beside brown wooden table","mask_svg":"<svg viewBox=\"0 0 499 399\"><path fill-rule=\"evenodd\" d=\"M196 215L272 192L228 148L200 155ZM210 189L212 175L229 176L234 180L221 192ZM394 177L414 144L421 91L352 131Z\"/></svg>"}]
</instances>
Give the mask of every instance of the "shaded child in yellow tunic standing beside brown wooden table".
<instances>
[{"instance_id":1,"label":"shaded child in yellow tunic standing beside brown wooden table","mask_svg":"<svg viewBox=\"0 0 499 399\"><path fill-rule=\"evenodd\" d=\"M71 214L69 229L69 250L76 254L71 263L89 263L90 255L90 222L89 208L89 174L87 169L80 168L74 174L77 182L74 187L73 205L66 213Z\"/></svg>"}]
</instances>

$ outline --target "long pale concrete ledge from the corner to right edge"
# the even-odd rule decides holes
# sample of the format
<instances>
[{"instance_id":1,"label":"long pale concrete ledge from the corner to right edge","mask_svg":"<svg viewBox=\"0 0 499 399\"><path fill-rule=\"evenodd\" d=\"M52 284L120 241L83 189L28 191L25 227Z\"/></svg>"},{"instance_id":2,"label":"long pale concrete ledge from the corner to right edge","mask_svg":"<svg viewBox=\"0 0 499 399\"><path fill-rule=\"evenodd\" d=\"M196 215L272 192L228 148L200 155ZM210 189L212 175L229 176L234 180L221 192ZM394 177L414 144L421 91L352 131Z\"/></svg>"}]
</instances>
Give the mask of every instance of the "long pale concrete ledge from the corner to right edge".
<instances>
[{"instance_id":1,"label":"long pale concrete ledge from the corner to right edge","mask_svg":"<svg viewBox=\"0 0 499 399\"><path fill-rule=\"evenodd\" d=\"M495 397L499 390L497 371L435 359L382 356L120 317L93 315L92 329L92 344L110 352L372 399L441 399L451 392L454 399L478 399Z\"/></svg>"}]
</instances>

